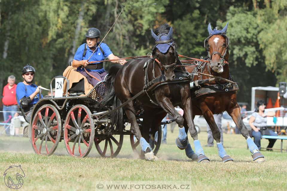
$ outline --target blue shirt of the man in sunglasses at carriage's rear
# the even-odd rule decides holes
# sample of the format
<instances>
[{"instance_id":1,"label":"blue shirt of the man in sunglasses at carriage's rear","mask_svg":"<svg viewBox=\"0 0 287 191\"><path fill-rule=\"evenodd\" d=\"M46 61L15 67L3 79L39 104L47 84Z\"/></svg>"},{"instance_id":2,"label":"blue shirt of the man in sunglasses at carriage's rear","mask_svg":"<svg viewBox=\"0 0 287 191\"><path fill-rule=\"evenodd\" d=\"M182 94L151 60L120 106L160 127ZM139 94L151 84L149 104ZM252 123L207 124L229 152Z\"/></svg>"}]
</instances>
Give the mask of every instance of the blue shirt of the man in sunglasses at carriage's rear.
<instances>
[{"instance_id":1,"label":"blue shirt of the man in sunglasses at carriage's rear","mask_svg":"<svg viewBox=\"0 0 287 191\"><path fill-rule=\"evenodd\" d=\"M26 88L25 88L26 86ZM19 82L17 84L17 87L16 87L16 96L17 96L17 102L18 104L20 105L19 103L19 100L24 98L24 97L29 97L32 93L34 93L37 89L37 86L35 84L32 84L32 85L25 85L23 82ZM41 98L43 96L41 95ZM37 102L39 101L39 93L37 94L37 98L35 97L31 103L29 105L34 105L36 104Z\"/></svg>"}]
</instances>

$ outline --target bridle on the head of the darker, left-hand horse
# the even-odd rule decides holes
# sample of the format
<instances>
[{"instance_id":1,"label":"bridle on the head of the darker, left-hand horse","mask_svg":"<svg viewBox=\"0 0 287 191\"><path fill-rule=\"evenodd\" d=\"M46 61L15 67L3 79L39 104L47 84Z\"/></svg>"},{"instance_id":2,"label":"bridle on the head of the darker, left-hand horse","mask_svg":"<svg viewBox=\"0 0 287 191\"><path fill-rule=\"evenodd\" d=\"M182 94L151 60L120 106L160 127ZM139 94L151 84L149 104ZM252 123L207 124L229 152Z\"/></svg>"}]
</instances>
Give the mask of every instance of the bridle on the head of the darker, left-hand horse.
<instances>
[{"instance_id":1,"label":"bridle on the head of the darker, left-hand horse","mask_svg":"<svg viewBox=\"0 0 287 191\"><path fill-rule=\"evenodd\" d=\"M167 68L171 68L171 67L173 67L173 69L174 69L174 68L175 68L175 64L176 64L176 62L177 62L177 60L178 60L177 51L176 51L176 49L175 49L175 44L174 44L174 42L173 42L172 40L164 40L164 41L161 41L161 36L167 36L167 34L160 34L160 35L158 36L159 41L155 41L155 46L152 48L152 59L154 59L155 61L157 61L158 65L161 67L161 70L164 70L164 69L167 70ZM170 64L170 65L163 65L163 64L161 64L161 61L158 61L158 59L157 59L158 56L155 54L156 45L158 45L158 44L164 44L164 43L169 44L169 45L173 48L173 50L174 50L175 62L172 63L172 64Z\"/></svg>"}]
</instances>

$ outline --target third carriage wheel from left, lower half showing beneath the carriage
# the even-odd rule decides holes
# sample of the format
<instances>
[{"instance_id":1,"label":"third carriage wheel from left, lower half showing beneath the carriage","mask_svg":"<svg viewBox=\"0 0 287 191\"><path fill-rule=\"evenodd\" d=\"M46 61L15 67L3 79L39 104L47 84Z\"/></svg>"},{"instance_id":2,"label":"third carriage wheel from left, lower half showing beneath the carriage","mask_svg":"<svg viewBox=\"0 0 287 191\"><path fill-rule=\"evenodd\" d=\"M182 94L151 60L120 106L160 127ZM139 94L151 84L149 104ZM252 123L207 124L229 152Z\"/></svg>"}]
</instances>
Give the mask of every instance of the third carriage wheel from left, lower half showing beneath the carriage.
<instances>
[{"instance_id":1,"label":"third carriage wheel from left, lower half showing beneath the carriage","mask_svg":"<svg viewBox=\"0 0 287 191\"><path fill-rule=\"evenodd\" d=\"M118 140L118 141L117 141ZM116 157L123 145L123 135L95 137L97 151L102 157ZM109 147L108 147L109 145Z\"/></svg>"}]
</instances>

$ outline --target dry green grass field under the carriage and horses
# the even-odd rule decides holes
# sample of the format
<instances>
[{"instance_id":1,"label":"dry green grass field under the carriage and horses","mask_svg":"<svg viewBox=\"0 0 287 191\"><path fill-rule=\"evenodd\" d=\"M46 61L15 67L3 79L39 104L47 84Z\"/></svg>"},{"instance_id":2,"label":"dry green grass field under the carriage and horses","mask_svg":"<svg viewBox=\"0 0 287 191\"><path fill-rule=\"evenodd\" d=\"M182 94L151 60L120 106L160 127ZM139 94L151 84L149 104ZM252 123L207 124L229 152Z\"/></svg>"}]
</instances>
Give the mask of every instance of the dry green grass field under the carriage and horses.
<instances>
[{"instance_id":1,"label":"dry green grass field under the carriage and horses","mask_svg":"<svg viewBox=\"0 0 287 191\"><path fill-rule=\"evenodd\" d=\"M25 178L19 190L97 190L96 181L181 181L190 185L185 190L200 191L287 190L286 151L262 149L266 162L253 163L242 135L224 134L225 150L234 162L222 163L216 147L203 147L211 163L199 164L176 147L177 134L171 133L168 126L167 144L161 145L158 161L136 159L127 135L117 158L101 158L95 147L86 158L72 158L63 142L51 156L36 155L29 138L1 136L0 172L3 175L9 166L21 165ZM207 133L199 133L199 140L201 145L207 144ZM268 140L262 139L261 144L266 147ZM283 141L283 148L286 146L287 141ZM280 148L280 140L274 148ZM4 176L0 179L0 190L10 190Z\"/></svg>"}]
</instances>

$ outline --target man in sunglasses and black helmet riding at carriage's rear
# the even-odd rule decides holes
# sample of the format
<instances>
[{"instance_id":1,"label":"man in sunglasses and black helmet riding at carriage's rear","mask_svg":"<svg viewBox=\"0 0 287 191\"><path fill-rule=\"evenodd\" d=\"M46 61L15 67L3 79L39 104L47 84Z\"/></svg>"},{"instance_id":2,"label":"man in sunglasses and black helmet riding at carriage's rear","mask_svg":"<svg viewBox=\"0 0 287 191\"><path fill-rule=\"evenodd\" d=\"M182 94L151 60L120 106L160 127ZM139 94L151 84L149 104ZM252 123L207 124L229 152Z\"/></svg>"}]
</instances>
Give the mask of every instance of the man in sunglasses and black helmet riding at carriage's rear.
<instances>
[{"instance_id":1,"label":"man in sunglasses and black helmet riding at carriage's rear","mask_svg":"<svg viewBox=\"0 0 287 191\"><path fill-rule=\"evenodd\" d=\"M22 69L23 82L19 82L16 87L16 99L18 106L27 122L30 122L31 113L34 105L39 101L39 92L41 86L32 84L34 79L35 69L27 64ZM43 96L41 95L41 98Z\"/></svg>"}]
</instances>

